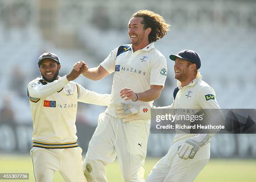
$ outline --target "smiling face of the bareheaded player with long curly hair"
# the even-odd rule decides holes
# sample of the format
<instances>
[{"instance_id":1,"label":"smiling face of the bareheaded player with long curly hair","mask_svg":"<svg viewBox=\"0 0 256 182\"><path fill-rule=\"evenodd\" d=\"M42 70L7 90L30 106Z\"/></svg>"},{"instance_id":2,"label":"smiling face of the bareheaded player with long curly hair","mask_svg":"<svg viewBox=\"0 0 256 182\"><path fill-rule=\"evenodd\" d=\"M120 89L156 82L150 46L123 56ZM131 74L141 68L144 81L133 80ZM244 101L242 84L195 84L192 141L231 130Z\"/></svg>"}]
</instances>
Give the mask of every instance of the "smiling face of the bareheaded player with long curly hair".
<instances>
[{"instance_id":1,"label":"smiling face of the bareheaded player with long curly hair","mask_svg":"<svg viewBox=\"0 0 256 182\"><path fill-rule=\"evenodd\" d=\"M149 44L148 35L151 28L144 29L142 17L133 17L128 23L128 35L133 46L146 46Z\"/></svg>"}]
</instances>

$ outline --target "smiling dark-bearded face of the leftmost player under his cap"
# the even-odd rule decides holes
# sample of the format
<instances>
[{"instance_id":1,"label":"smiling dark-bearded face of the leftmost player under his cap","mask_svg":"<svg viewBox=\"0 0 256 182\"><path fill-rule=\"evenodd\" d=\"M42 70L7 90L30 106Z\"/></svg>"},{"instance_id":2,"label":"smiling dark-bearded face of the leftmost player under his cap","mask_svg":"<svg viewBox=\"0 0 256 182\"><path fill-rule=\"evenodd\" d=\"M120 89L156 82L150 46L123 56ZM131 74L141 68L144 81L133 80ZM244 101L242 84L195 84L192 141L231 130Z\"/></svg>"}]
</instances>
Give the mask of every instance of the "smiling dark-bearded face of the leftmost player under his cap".
<instances>
[{"instance_id":1,"label":"smiling dark-bearded face of the leftmost player under his cap","mask_svg":"<svg viewBox=\"0 0 256 182\"><path fill-rule=\"evenodd\" d=\"M54 80L57 80L60 68L61 65L58 65L54 60L45 59L41 62L39 71L45 81L53 82Z\"/></svg>"}]
</instances>

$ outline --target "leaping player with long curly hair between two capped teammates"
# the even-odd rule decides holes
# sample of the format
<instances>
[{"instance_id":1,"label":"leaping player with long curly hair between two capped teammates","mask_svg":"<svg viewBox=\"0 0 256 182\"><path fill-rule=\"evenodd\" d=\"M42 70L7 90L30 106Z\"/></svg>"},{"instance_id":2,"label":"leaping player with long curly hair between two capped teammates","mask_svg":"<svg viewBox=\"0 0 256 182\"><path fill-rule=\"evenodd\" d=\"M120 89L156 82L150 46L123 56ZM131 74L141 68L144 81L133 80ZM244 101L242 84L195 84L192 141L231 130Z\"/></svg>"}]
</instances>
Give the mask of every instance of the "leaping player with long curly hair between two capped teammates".
<instances>
[{"instance_id":1,"label":"leaping player with long curly hair between two capped teammates","mask_svg":"<svg viewBox=\"0 0 256 182\"><path fill-rule=\"evenodd\" d=\"M111 101L98 118L98 126L89 143L84 160L84 175L88 182L107 182L105 166L118 158L125 182L143 182L150 120L117 117L121 103L135 105L138 110L150 109L158 99L167 75L165 57L154 47L164 37L169 25L160 15L140 10L128 22L131 44L115 48L98 67L85 67L82 74L91 80L114 72ZM75 70L84 62L77 62ZM138 110L127 110L129 115Z\"/></svg>"}]
</instances>

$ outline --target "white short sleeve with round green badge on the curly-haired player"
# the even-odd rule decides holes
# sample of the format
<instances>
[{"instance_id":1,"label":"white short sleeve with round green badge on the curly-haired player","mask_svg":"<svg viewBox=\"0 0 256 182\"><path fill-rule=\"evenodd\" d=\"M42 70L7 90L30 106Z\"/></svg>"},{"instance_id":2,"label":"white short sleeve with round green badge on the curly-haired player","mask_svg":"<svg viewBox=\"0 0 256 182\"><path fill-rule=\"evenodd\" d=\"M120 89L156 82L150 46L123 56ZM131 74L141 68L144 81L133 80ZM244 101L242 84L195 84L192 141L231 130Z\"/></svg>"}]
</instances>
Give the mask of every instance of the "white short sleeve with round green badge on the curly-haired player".
<instances>
[{"instance_id":1,"label":"white short sleeve with round green badge on the curly-haired player","mask_svg":"<svg viewBox=\"0 0 256 182\"><path fill-rule=\"evenodd\" d=\"M167 76L167 64L163 55L160 55L151 62L150 85L163 85Z\"/></svg>"}]
</instances>

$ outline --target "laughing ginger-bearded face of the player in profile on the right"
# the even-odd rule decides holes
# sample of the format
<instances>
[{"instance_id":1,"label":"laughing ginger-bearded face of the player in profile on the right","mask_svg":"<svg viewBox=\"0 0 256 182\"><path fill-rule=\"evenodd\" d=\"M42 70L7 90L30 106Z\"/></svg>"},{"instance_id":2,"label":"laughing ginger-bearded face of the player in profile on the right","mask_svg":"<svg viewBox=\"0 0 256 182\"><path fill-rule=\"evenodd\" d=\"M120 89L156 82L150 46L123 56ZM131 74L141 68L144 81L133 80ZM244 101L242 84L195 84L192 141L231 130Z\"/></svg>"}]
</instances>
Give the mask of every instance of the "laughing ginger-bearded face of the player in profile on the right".
<instances>
[{"instance_id":1,"label":"laughing ginger-bearded face of the player in profile on the right","mask_svg":"<svg viewBox=\"0 0 256 182\"><path fill-rule=\"evenodd\" d=\"M194 75L195 64L187 60L180 59L179 57L176 58L174 64L174 73L175 78L181 82L186 81L189 77Z\"/></svg>"}]
</instances>

